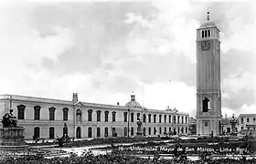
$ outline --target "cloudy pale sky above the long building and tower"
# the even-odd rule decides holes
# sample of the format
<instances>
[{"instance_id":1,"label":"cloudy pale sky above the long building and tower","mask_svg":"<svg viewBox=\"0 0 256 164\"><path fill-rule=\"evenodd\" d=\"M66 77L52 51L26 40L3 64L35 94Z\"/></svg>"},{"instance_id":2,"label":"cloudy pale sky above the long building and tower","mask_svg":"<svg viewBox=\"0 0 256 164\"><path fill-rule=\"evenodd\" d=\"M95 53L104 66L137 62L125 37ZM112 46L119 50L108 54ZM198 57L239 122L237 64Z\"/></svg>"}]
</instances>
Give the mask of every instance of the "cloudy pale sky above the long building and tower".
<instances>
[{"instance_id":1,"label":"cloudy pale sky above the long building and tower","mask_svg":"<svg viewBox=\"0 0 256 164\"><path fill-rule=\"evenodd\" d=\"M0 0L0 94L195 117L196 30L219 27L222 115L256 112L253 0Z\"/></svg>"}]
</instances>

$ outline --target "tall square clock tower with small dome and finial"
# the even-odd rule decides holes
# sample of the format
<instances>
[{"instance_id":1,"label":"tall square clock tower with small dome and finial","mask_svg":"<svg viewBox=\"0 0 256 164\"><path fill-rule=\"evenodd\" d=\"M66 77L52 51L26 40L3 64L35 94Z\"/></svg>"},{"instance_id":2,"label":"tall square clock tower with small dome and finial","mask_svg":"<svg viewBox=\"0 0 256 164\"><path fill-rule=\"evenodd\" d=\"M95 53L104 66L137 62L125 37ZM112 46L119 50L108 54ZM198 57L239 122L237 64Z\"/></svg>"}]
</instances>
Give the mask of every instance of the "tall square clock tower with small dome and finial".
<instances>
[{"instance_id":1,"label":"tall square clock tower with small dome and finial","mask_svg":"<svg viewBox=\"0 0 256 164\"><path fill-rule=\"evenodd\" d=\"M197 134L222 134L219 28L207 21L197 28Z\"/></svg>"}]
</instances>

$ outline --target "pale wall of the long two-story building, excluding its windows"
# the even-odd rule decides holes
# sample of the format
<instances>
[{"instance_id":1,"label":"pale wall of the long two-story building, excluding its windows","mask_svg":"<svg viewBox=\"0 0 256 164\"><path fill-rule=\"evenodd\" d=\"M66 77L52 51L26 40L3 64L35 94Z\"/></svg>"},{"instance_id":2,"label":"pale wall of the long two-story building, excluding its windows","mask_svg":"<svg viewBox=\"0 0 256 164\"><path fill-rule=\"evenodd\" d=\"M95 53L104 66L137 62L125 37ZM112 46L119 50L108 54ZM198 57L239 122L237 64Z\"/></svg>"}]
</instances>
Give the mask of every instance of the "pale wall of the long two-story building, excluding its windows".
<instances>
[{"instance_id":1,"label":"pale wall of the long two-story building, excluding its windows","mask_svg":"<svg viewBox=\"0 0 256 164\"><path fill-rule=\"evenodd\" d=\"M2 116L5 111L10 108L9 96L0 96L0 113ZM128 108L122 106L111 106L102 104L91 104L91 103L78 103L58 100L58 99L48 99L40 97L22 97L22 96L12 96L12 108L14 108L14 116L18 118L18 106L24 105L24 119L17 119L18 125L25 129L24 135L26 139L31 139L34 136L35 128L39 128L39 138L49 138L49 128L54 128L54 138L62 137L64 123L67 124L69 129L69 137L78 138L77 129L80 128L80 138L89 138L89 128L91 128L91 138L97 138L97 128L100 128L101 136L104 138L104 130L108 128L108 137L112 136L112 128L115 128L118 137L124 136L124 128L128 127L127 122L124 122L124 112L127 112ZM35 106L40 106L40 119L35 120ZM49 108L55 109L54 120L49 120ZM63 108L69 108L69 119L63 120ZM77 110L81 110L81 120L77 116ZM89 121L89 110L92 110L92 120ZM101 111L101 121L97 121L97 111ZM105 121L105 111L109 111L108 121ZM112 112L116 112L115 122L112 121ZM131 122L131 117L129 119L129 128L131 136L131 128L133 128L133 136L137 132L137 113L140 113L141 121L143 122L142 129L145 130L145 136L156 136L163 135L166 128L166 133L173 132L176 129L177 134L187 134L188 133L188 114L180 113L176 110L154 110L154 109L144 109L144 108L130 108L130 114L134 113L133 122ZM143 115L146 115L146 121L143 120ZM148 122L148 114L151 114L151 123ZM154 115L156 115L156 122L154 123ZM162 115L161 123L159 122L159 115ZM164 116L166 115L166 122ZM171 123L169 123L169 115L171 116ZM182 122L183 117L183 122ZM176 118L176 123L174 123L174 118ZM177 120L179 118L179 120ZM186 122L187 118L187 122ZM1 118L2 119L2 118ZM179 122L179 123L178 123ZM151 128L151 135L149 135L148 129ZM154 128L156 128L156 133L154 134ZM160 133L161 128L161 133ZM183 133L181 129L184 128ZM187 131L186 131L187 128ZM142 130L143 131L143 130ZM126 134L127 135L127 134Z\"/></svg>"}]
</instances>

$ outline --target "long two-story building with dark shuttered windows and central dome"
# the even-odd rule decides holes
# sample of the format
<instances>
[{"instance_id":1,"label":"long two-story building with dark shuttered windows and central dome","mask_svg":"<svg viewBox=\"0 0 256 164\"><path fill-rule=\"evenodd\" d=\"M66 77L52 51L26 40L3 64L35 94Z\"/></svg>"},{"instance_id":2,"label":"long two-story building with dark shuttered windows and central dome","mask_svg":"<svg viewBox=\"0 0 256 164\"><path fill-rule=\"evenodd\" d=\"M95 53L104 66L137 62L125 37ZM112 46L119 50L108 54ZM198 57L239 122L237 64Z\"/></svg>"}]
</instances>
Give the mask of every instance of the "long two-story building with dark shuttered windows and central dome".
<instances>
[{"instance_id":1,"label":"long two-story building with dark shuttered windows and central dome","mask_svg":"<svg viewBox=\"0 0 256 164\"><path fill-rule=\"evenodd\" d=\"M15 95L0 96L0 114L14 109L25 138L56 138L67 133L71 138L134 137L137 120L143 122L143 135L187 134L188 113L176 109L143 108L135 96L125 106L81 102L74 93L71 101ZM65 126L64 126L65 124ZM129 129L129 130L128 130Z\"/></svg>"}]
</instances>

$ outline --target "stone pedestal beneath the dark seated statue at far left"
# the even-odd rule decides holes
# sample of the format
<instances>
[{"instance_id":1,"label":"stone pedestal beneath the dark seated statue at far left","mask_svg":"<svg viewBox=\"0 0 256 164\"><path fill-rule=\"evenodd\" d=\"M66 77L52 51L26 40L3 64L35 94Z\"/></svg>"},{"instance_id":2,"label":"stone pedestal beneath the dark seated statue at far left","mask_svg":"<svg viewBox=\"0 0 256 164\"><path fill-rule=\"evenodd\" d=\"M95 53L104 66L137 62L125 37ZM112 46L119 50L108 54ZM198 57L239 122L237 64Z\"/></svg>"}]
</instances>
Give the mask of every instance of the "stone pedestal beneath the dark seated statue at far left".
<instances>
[{"instance_id":1,"label":"stone pedestal beneath the dark seated statue at far left","mask_svg":"<svg viewBox=\"0 0 256 164\"><path fill-rule=\"evenodd\" d=\"M25 128L0 128L0 149L27 149L24 141Z\"/></svg>"}]
</instances>

